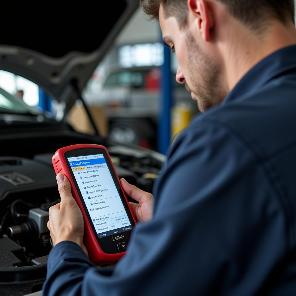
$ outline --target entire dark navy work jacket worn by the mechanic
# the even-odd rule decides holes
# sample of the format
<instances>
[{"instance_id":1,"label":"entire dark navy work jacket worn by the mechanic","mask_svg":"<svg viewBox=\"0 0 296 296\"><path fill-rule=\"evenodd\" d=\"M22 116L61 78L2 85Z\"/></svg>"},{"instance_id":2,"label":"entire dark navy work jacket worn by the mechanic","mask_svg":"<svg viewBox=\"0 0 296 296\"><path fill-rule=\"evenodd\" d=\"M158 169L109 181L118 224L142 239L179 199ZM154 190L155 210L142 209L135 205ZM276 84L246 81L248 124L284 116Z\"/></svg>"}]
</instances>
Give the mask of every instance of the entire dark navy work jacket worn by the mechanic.
<instances>
[{"instance_id":1,"label":"entire dark navy work jacket worn by the mechanic","mask_svg":"<svg viewBox=\"0 0 296 296\"><path fill-rule=\"evenodd\" d=\"M60 242L43 294L296 295L296 45L192 120L153 195L111 275Z\"/></svg>"}]
</instances>

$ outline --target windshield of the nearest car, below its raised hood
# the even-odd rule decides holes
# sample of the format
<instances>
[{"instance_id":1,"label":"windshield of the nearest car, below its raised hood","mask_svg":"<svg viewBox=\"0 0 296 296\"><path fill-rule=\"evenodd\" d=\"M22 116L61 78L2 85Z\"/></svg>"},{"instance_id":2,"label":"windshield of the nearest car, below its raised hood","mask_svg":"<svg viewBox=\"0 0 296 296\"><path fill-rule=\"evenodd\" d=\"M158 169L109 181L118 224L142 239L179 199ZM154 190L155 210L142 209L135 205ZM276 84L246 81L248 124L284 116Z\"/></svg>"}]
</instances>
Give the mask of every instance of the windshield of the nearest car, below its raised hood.
<instances>
[{"instance_id":1,"label":"windshield of the nearest car, below its raised hood","mask_svg":"<svg viewBox=\"0 0 296 296\"><path fill-rule=\"evenodd\" d=\"M0 113L40 115L33 107L28 106L17 96L0 88Z\"/></svg>"}]
</instances>

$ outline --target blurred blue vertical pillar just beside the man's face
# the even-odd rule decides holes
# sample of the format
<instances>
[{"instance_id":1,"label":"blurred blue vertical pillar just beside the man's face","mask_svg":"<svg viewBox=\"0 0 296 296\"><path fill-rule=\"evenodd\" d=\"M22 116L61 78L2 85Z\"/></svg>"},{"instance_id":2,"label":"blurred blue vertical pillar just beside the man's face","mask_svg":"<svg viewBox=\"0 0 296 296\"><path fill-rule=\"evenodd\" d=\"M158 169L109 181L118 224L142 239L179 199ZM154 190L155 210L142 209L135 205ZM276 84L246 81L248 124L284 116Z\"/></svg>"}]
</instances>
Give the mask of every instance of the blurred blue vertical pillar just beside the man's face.
<instances>
[{"instance_id":1,"label":"blurred blue vertical pillar just beside the man's face","mask_svg":"<svg viewBox=\"0 0 296 296\"><path fill-rule=\"evenodd\" d=\"M162 34L161 34L162 42ZM164 63L161 67L161 102L158 120L158 152L165 154L171 141L171 108L173 105L173 83L171 75L171 53L164 46Z\"/></svg>"}]
</instances>

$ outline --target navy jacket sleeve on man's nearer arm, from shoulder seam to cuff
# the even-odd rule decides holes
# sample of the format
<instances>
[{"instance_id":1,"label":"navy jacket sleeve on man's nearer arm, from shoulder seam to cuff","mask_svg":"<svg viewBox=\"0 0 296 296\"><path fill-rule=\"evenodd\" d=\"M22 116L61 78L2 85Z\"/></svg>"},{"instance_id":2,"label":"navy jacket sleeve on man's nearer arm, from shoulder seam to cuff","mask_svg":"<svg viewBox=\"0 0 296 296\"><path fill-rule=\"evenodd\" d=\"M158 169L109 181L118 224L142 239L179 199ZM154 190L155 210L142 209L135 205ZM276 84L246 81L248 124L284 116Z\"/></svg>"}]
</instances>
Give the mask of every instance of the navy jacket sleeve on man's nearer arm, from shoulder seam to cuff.
<instances>
[{"instance_id":1,"label":"navy jacket sleeve on man's nearer arm, from shoulder seam to cuff","mask_svg":"<svg viewBox=\"0 0 296 296\"><path fill-rule=\"evenodd\" d=\"M154 217L107 276L78 245L49 256L43 295L253 295L284 256L285 218L239 135L201 122L170 149Z\"/></svg>"}]
</instances>

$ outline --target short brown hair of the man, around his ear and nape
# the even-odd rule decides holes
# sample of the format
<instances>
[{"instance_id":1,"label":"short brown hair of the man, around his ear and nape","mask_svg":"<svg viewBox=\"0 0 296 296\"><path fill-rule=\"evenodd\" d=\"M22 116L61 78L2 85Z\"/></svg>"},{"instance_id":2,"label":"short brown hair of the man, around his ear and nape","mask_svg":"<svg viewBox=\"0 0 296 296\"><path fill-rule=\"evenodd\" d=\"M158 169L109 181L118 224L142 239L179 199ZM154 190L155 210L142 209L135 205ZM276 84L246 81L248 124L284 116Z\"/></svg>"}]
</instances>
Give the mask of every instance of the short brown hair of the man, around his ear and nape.
<instances>
[{"instance_id":1,"label":"short brown hair of the man, around his ear and nape","mask_svg":"<svg viewBox=\"0 0 296 296\"><path fill-rule=\"evenodd\" d=\"M251 30L260 31L271 19L283 24L287 20L295 22L294 0L215 0L222 2L228 12L247 25ZM187 22L187 0L141 0L143 11L152 20L159 20L159 7L163 6L164 17L173 16L179 27L184 28Z\"/></svg>"}]
</instances>

